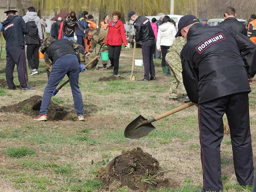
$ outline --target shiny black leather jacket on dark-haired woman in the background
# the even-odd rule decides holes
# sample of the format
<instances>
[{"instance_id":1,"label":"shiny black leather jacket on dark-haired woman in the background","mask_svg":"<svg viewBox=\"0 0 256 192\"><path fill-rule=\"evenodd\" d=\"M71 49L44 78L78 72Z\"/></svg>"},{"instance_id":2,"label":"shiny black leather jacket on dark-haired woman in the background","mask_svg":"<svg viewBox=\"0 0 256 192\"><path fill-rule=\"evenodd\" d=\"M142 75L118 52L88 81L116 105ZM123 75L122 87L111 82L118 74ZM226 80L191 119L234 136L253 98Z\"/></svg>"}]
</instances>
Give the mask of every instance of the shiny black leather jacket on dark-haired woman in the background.
<instances>
[{"instance_id":1,"label":"shiny black leather jacket on dark-haired woman in the background","mask_svg":"<svg viewBox=\"0 0 256 192\"><path fill-rule=\"evenodd\" d=\"M75 33L76 26L79 30L83 30L79 25L77 25L77 19L71 20L70 17L66 18L63 22L61 29L61 36L73 37Z\"/></svg>"}]
</instances>

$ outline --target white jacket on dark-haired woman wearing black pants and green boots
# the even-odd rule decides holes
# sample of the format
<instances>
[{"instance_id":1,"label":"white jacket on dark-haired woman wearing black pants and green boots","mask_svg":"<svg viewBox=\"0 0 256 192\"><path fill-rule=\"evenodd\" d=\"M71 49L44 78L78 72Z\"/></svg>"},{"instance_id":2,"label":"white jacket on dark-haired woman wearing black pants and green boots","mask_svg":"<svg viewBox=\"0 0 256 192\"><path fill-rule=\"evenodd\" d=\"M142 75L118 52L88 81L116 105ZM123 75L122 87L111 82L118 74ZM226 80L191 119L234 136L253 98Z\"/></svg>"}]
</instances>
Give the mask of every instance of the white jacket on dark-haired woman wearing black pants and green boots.
<instances>
[{"instance_id":1,"label":"white jacket on dark-haired woman wearing black pants and green boots","mask_svg":"<svg viewBox=\"0 0 256 192\"><path fill-rule=\"evenodd\" d=\"M176 35L176 28L171 22L159 25L156 39L156 49L161 49L160 45L171 46Z\"/></svg>"}]
</instances>

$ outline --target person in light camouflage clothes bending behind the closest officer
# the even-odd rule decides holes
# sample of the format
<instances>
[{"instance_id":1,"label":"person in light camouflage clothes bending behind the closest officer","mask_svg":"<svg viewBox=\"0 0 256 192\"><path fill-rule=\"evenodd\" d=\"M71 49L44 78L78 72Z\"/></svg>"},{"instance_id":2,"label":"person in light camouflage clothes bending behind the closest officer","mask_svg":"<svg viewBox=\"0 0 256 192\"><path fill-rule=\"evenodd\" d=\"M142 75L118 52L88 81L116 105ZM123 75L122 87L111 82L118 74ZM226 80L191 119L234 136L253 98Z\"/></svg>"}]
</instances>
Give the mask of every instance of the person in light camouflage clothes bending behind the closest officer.
<instances>
[{"instance_id":1,"label":"person in light camouflage clothes bending behind the closest officer","mask_svg":"<svg viewBox=\"0 0 256 192\"><path fill-rule=\"evenodd\" d=\"M180 52L183 49L185 44L186 44L186 41L183 37L175 38L165 57L166 63L171 70L171 76L172 76L172 83L170 86L170 96L169 96L169 100L172 100L172 101L178 100L177 99L178 90L181 91L183 100L187 101L187 98L186 98L187 93L183 85L182 74L181 74L182 67L181 67L181 58L180 58Z\"/></svg>"}]
</instances>

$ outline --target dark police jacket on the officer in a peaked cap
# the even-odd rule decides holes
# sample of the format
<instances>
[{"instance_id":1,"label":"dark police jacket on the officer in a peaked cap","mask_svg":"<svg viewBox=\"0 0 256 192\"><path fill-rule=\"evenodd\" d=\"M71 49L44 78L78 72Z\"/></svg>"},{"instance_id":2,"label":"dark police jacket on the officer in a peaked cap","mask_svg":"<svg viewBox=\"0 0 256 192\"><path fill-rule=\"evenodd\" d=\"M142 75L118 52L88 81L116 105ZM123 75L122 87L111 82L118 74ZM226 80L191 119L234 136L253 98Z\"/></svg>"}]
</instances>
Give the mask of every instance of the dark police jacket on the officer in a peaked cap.
<instances>
[{"instance_id":1,"label":"dark police jacket on the officer in a peaked cap","mask_svg":"<svg viewBox=\"0 0 256 192\"><path fill-rule=\"evenodd\" d=\"M25 46L24 35L29 32L28 25L18 15L9 15L6 20L2 22L3 35L6 40L5 48L10 46Z\"/></svg>"}]
</instances>

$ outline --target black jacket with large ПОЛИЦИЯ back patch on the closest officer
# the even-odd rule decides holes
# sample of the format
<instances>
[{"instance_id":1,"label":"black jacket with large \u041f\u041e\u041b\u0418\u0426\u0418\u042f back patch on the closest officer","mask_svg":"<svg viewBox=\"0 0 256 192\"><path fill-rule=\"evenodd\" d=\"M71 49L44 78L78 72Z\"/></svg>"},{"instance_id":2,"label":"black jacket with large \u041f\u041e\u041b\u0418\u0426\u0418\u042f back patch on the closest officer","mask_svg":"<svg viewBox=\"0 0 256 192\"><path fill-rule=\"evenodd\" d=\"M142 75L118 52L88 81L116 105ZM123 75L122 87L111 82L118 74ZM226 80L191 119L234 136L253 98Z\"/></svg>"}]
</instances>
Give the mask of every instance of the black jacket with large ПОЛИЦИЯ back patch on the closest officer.
<instances>
[{"instance_id":1,"label":"black jacket with large \u041f\u041e\u041b\u0418\u0426\u0418\u042f back patch on the closest officer","mask_svg":"<svg viewBox=\"0 0 256 192\"><path fill-rule=\"evenodd\" d=\"M183 84L189 99L204 103L225 95L250 92L256 73L256 46L228 26L194 24L180 52Z\"/></svg>"}]
</instances>

